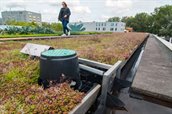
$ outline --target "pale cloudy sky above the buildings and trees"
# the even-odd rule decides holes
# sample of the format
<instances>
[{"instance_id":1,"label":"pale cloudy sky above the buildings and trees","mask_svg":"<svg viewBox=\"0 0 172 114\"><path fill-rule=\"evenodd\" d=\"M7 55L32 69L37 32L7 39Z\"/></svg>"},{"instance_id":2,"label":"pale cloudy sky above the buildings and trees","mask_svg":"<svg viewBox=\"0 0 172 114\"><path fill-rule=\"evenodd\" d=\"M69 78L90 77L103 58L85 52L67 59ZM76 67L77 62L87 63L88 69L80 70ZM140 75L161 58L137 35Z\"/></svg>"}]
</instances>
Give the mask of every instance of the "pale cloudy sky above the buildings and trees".
<instances>
[{"instance_id":1,"label":"pale cloudy sky above the buildings and trees","mask_svg":"<svg viewBox=\"0 0 172 114\"><path fill-rule=\"evenodd\" d=\"M42 20L57 22L61 2L71 9L71 21L106 21L112 16L133 16L139 12L153 12L155 7L172 0L0 0L0 12L29 10L42 14ZM0 15L1 17L1 15Z\"/></svg>"}]
</instances>

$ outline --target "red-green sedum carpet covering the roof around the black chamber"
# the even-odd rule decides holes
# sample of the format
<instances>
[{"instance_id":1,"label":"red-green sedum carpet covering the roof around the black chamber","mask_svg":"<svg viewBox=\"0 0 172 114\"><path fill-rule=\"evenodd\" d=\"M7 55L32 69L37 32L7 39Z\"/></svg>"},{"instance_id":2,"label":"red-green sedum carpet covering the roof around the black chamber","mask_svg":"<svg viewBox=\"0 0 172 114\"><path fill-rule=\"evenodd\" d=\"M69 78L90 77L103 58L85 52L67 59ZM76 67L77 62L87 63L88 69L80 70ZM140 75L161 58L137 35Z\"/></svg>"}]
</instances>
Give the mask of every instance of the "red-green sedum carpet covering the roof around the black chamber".
<instances>
[{"instance_id":1,"label":"red-green sedum carpet covering the roof around the black chamber","mask_svg":"<svg viewBox=\"0 0 172 114\"><path fill-rule=\"evenodd\" d=\"M47 90L37 85L39 60L30 60L20 50L28 42L73 49L79 57L114 64L125 61L147 37L145 33L114 33L77 36L70 39L5 42L0 44L0 113L66 114L84 97L67 83Z\"/></svg>"}]
</instances>

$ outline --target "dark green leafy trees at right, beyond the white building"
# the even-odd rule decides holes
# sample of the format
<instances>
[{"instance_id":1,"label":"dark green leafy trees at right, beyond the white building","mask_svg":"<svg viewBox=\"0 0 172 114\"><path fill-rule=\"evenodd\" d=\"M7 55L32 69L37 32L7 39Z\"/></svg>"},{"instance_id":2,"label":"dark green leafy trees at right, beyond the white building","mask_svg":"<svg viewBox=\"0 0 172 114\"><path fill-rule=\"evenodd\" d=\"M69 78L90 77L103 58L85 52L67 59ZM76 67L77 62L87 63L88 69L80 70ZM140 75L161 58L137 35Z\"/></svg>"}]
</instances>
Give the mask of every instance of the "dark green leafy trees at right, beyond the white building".
<instances>
[{"instance_id":1,"label":"dark green leafy trees at right, beyond the white building","mask_svg":"<svg viewBox=\"0 0 172 114\"><path fill-rule=\"evenodd\" d=\"M136 32L172 37L172 5L155 8L151 14L143 12L130 17L112 17L108 21L125 22L127 27L132 27Z\"/></svg>"}]
</instances>

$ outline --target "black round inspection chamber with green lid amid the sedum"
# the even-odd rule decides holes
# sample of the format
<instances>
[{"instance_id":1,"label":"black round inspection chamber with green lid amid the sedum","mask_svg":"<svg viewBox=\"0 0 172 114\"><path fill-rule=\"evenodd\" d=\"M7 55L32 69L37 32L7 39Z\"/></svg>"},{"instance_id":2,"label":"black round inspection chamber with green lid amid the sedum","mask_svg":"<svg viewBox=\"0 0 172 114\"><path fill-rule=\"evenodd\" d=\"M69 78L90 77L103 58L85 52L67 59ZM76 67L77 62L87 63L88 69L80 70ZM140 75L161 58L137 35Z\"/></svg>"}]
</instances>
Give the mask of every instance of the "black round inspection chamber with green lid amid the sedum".
<instances>
[{"instance_id":1,"label":"black round inspection chamber with green lid amid the sedum","mask_svg":"<svg viewBox=\"0 0 172 114\"><path fill-rule=\"evenodd\" d=\"M64 77L80 86L79 63L77 53L68 49L48 50L41 53L40 77L38 84L44 87L49 81L60 83Z\"/></svg>"}]
</instances>

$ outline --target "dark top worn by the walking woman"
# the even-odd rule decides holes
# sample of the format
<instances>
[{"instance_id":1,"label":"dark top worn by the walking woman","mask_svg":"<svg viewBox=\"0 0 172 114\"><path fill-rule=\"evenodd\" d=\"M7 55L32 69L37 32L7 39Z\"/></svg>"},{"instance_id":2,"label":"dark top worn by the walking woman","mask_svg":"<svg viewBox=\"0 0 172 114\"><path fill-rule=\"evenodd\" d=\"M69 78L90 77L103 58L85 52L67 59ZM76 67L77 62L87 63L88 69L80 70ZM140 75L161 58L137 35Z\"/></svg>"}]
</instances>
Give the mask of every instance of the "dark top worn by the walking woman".
<instances>
[{"instance_id":1,"label":"dark top worn by the walking woman","mask_svg":"<svg viewBox=\"0 0 172 114\"><path fill-rule=\"evenodd\" d=\"M66 18L64 18L65 15L67 15ZM70 15L71 15L71 12L70 12L70 9L68 7L61 8L58 19L60 21L62 21L62 19L65 19L65 20L69 21Z\"/></svg>"}]
</instances>

